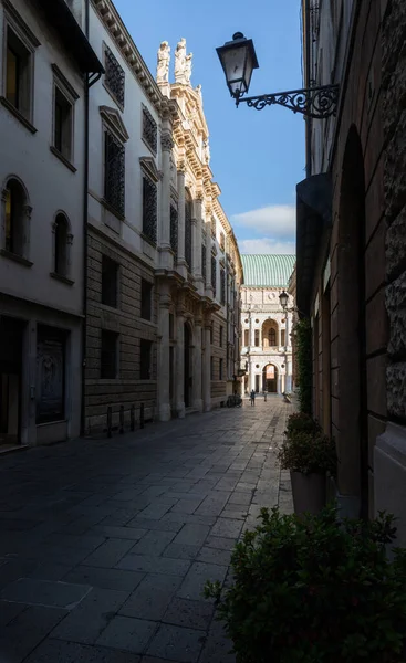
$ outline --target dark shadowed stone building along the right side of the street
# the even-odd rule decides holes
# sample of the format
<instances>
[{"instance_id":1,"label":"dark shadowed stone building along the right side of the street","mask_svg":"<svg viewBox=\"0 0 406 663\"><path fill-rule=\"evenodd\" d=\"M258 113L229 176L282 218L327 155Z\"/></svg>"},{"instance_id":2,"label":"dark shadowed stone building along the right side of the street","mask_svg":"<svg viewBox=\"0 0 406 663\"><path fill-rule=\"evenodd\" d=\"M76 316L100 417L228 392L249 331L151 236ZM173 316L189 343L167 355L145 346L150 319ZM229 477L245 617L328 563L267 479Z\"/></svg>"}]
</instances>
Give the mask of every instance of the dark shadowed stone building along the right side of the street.
<instances>
[{"instance_id":1,"label":"dark shadowed stone building along the right side of the street","mask_svg":"<svg viewBox=\"0 0 406 663\"><path fill-rule=\"evenodd\" d=\"M308 120L298 185L298 306L313 327L313 412L336 439L344 512L398 517L406 543L402 0L303 2L306 85L340 85Z\"/></svg>"}]
</instances>

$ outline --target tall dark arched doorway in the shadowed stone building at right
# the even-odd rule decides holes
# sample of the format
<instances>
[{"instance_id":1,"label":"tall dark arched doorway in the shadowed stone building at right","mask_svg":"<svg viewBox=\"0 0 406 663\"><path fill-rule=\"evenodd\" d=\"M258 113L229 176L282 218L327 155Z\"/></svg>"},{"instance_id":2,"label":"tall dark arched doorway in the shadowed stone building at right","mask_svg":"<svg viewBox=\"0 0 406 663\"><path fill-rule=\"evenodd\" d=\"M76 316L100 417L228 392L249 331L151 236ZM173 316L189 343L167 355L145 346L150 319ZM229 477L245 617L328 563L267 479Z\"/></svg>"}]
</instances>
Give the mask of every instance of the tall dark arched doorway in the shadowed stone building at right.
<instances>
[{"instance_id":1,"label":"tall dark arched doorway in the shadowed stone building at right","mask_svg":"<svg viewBox=\"0 0 406 663\"><path fill-rule=\"evenodd\" d=\"M332 248L334 251L334 248ZM337 244L339 420L337 484L368 516L368 438L365 327L365 179L358 133L350 129L343 160Z\"/></svg>"}]
</instances>

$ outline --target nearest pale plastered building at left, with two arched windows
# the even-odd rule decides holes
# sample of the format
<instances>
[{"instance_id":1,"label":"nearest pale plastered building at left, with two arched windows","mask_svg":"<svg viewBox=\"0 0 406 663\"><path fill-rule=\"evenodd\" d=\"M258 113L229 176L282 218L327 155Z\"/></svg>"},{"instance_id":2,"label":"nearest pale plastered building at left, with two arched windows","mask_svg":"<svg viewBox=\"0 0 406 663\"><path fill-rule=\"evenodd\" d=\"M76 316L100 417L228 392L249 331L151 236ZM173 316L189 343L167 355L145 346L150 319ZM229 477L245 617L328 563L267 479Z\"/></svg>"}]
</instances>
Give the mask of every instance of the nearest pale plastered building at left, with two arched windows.
<instances>
[{"instance_id":1,"label":"nearest pale plastered building at left, with two arched windows","mask_svg":"<svg viewBox=\"0 0 406 663\"><path fill-rule=\"evenodd\" d=\"M80 434L87 76L64 0L0 2L0 444Z\"/></svg>"}]
</instances>

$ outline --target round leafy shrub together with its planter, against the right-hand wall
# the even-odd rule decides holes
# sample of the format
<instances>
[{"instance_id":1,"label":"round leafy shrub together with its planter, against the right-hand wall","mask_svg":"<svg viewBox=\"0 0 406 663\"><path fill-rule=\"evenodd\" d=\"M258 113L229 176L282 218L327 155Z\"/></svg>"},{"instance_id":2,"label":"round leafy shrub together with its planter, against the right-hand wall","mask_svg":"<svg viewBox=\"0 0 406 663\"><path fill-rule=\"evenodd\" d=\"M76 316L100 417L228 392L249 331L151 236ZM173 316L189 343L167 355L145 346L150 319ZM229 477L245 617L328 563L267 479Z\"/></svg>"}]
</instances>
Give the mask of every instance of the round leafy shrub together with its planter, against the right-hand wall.
<instances>
[{"instance_id":1,"label":"round leafy shrub together with its planter, against the right-hand wall","mask_svg":"<svg viewBox=\"0 0 406 663\"><path fill-rule=\"evenodd\" d=\"M295 513L317 514L325 506L326 474L334 475L336 470L334 440L310 417L293 414L278 457L291 473Z\"/></svg>"}]
</instances>

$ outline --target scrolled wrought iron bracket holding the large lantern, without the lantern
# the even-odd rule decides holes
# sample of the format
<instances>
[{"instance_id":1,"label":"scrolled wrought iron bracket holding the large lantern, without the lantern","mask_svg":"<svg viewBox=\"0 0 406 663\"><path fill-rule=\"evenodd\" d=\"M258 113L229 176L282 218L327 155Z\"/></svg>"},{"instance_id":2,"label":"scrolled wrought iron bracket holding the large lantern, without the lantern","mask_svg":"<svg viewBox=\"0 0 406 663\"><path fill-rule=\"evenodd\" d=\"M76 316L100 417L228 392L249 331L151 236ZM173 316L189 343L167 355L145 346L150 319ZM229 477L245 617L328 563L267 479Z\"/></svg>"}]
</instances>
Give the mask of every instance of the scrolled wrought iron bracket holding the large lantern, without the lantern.
<instances>
[{"instance_id":1,"label":"scrolled wrought iron bracket holding the large lantern, without the lantern","mask_svg":"<svg viewBox=\"0 0 406 663\"><path fill-rule=\"evenodd\" d=\"M305 117L325 119L336 114L339 94L339 85L323 85L247 98L243 98L240 93L236 93L235 98L236 106L244 102L248 106L262 110L266 106L279 105L290 108L293 113L301 113Z\"/></svg>"}]
</instances>

